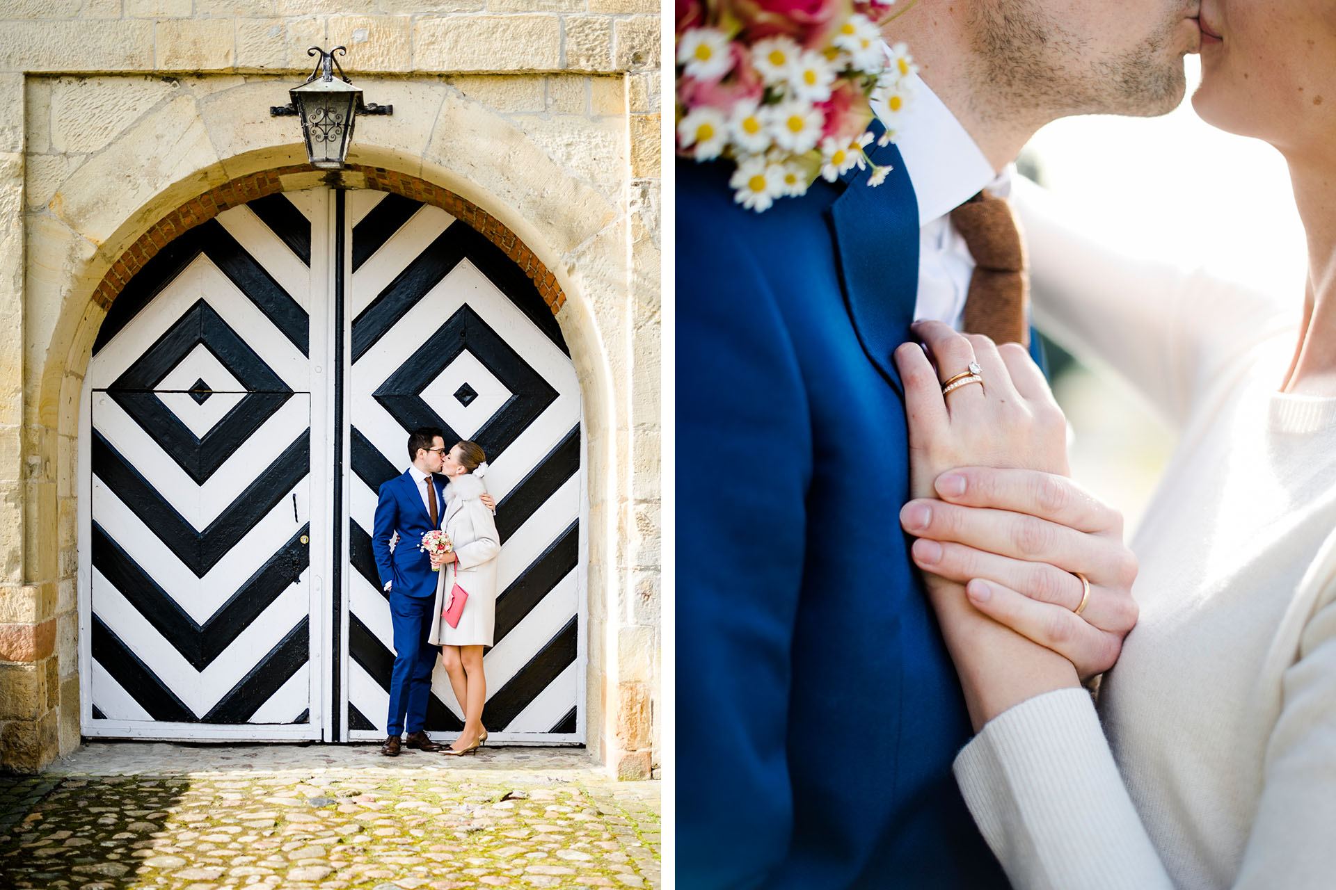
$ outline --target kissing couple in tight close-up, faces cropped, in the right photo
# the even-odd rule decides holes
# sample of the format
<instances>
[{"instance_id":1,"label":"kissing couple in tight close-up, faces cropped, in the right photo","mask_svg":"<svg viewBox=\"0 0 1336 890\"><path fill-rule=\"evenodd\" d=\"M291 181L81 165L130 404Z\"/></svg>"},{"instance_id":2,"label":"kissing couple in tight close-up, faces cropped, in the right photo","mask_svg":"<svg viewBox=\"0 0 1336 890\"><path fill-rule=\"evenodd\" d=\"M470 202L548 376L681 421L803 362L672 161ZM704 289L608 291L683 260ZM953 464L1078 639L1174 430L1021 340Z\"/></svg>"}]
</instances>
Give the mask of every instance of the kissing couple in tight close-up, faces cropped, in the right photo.
<instances>
[{"instance_id":1,"label":"kissing couple in tight close-up, faces cropped, in the right photo","mask_svg":"<svg viewBox=\"0 0 1336 890\"><path fill-rule=\"evenodd\" d=\"M1333 886L1336 4L921 0L880 37L922 65L883 184L755 213L677 163L679 886ZM1197 113L1289 165L1288 311L1011 181L1051 120L1172 109L1189 52ZM1067 478L1007 192L1035 316L1180 428L1132 550Z\"/></svg>"}]
</instances>

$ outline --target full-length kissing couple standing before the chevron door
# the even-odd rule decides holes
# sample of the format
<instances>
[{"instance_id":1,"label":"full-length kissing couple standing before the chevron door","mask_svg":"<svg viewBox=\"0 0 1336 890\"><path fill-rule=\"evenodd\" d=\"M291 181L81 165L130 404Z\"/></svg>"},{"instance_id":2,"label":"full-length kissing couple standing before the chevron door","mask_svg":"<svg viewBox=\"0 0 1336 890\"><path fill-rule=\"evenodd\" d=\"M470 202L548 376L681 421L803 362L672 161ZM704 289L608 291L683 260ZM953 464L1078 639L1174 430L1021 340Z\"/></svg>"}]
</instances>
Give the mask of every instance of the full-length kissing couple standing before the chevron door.
<instances>
[{"instance_id":1,"label":"full-length kissing couple standing before the chevron door","mask_svg":"<svg viewBox=\"0 0 1336 890\"><path fill-rule=\"evenodd\" d=\"M482 647L493 643L501 552L496 502L482 482L486 455L476 442L457 442L446 450L445 434L433 427L414 430L407 450L409 468L381 486L371 531L394 626L390 714L381 754L398 757L405 746L469 754L488 738ZM445 532L446 552L428 552L424 536L433 531ZM438 650L464 711L464 729L449 747L433 742L424 729ZM401 739L405 729L407 738Z\"/></svg>"}]
</instances>

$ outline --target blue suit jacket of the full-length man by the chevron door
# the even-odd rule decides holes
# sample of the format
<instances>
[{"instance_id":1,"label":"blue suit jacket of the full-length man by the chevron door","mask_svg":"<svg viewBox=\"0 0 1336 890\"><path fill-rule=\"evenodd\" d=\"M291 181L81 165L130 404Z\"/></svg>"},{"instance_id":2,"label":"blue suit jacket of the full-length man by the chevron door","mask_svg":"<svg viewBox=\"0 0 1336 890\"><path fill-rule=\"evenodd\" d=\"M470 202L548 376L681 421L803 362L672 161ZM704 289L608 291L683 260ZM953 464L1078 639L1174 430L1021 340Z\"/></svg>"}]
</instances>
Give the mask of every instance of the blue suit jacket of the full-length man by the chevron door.
<instances>
[{"instance_id":1,"label":"blue suit jacket of the full-length man by the chevron door","mask_svg":"<svg viewBox=\"0 0 1336 890\"><path fill-rule=\"evenodd\" d=\"M441 476L432 476L436 486L437 520L445 512L445 484ZM375 520L371 527L371 552L375 555L375 570L381 576L381 587L391 583L391 590L407 596L434 596L437 572L432 571L432 560L422 552L422 535L440 528L433 526L426 512L426 504L413 480L413 472L405 470L381 486L381 499L375 503ZM399 542L390 550L390 538L399 532Z\"/></svg>"}]
</instances>

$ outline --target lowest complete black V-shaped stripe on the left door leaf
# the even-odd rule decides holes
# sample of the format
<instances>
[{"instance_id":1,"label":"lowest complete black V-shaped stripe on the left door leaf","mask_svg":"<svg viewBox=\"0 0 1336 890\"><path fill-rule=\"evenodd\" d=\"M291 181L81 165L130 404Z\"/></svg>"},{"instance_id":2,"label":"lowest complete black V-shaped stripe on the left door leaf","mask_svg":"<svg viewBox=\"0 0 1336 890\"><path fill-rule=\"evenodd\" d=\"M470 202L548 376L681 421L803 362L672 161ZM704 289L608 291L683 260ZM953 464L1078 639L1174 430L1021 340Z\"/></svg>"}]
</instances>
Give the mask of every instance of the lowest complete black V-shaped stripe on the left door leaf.
<instances>
[{"instance_id":1,"label":"lowest complete black V-shaped stripe on the left door leaf","mask_svg":"<svg viewBox=\"0 0 1336 890\"><path fill-rule=\"evenodd\" d=\"M301 539L310 530L310 524L302 526L203 624L195 623L96 522L92 523L92 564L195 670L204 670L297 583L309 563L309 546Z\"/></svg>"}]
</instances>

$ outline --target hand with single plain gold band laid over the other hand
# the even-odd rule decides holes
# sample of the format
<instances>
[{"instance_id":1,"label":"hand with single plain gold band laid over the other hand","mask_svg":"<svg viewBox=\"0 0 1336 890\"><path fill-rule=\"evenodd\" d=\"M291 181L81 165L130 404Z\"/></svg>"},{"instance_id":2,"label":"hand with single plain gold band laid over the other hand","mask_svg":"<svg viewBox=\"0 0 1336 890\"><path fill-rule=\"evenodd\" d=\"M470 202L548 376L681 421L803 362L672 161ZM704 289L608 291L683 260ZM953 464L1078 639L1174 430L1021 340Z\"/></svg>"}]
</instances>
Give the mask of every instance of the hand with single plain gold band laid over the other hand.
<instances>
[{"instance_id":1,"label":"hand with single plain gold band laid over the other hand","mask_svg":"<svg viewBox=\"0 0 1336 890\"><path fill-rule=\"evenodd\" d=\"M983 614L1061 652L1082 679L1113 667L1137 623L1137 559L1122 515L1070 479L1033 470L966 467L935 482L942 500L900 512L925 571L966 584ZM1090 582L1081 615L1083 586Z\"/></svg>"}]
</instances>

